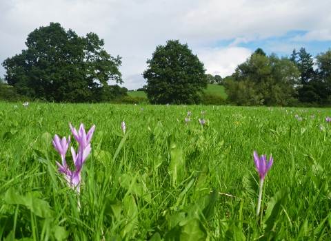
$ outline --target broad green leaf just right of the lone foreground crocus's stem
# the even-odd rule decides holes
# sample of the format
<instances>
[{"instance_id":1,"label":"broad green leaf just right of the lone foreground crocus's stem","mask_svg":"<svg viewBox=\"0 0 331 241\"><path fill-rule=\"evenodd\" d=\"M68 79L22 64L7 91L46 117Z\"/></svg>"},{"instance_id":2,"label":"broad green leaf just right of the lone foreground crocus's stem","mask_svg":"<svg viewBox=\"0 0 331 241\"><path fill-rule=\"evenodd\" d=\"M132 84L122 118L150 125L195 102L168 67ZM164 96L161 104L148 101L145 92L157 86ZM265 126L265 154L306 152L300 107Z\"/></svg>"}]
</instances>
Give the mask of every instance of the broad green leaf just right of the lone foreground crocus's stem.
<instances>
[{"instance_id":1,"label":"broad green leaf just right of the lone foreground crocus's stem","mask_svg":"<svg viewBox=\"0 0 331 241\"><path fill-rule=\"evenodd\" d=\"M279 216L283 208L285 208L288 202L288 194L290 193L289 187L283 187L270 199L267 204L267 210L263 217L262 224L265 232L269 232L274 229L277 222L279 222Z\"/></svg>"}]
</instances>

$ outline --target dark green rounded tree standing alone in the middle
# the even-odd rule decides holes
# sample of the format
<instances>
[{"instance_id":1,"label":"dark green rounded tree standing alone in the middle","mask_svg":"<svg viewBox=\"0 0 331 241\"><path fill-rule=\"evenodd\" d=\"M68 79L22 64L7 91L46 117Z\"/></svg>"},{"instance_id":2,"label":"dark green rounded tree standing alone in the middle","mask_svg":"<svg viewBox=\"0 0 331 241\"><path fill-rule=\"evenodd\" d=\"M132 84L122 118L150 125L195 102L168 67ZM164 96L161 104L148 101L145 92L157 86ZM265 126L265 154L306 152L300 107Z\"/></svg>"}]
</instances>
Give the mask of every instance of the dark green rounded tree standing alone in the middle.
<instances>
[{"instance_id":1,"label":"dark green rounded tree standing alone in the middle","mask_svg":"<svg viewBox=\"0 0 331 241\"><path fill-rule=\"evenodd\" d=\"M199 103L208 79L203 63L187 44L168 40L166 45L157 46L146 63L143 78L147 79L144 87L150 103Z\"/></svg>"}]
</instances>

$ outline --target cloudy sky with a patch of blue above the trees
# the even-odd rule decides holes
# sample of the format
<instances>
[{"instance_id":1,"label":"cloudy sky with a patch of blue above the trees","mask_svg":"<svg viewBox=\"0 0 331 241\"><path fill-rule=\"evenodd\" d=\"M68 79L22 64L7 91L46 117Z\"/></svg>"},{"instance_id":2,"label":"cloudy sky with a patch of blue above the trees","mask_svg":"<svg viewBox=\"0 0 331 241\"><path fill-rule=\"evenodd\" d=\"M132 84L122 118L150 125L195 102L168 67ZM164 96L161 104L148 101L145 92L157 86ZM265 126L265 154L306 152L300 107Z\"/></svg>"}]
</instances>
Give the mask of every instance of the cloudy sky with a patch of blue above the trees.
<instances>
[{"instance_id":1,"label":"cloudy sky with a patch of blue above the trees","mask_svg":"<svg viewBox=\"0 0 331 241\"><path fill-rule=\"evenodd\" d=\"M94 32L121 56L122 87L137 90L157 45L178 39L206 74L232 74L257 48L316 56L331 48L330 0L0 0L0 63L26 50L28 34L50 22ZM6 74L0 65L0 76ZM114 84L114 82L110 82Z\"/></svg>"}]
</instances>

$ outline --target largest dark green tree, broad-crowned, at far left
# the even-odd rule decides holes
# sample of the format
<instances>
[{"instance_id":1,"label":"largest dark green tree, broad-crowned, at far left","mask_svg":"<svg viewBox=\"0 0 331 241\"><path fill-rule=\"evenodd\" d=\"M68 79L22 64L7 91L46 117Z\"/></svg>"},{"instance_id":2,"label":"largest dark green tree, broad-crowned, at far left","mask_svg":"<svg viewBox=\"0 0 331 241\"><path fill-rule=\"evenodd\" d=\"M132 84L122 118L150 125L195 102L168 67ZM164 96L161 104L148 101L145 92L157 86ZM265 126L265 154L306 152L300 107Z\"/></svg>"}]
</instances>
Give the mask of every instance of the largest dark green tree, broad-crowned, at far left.
<instances>
[{"instance_id":1,"label":"largest dark green tree, broad-crowned, at far left","mask_svg":"<svg viewBox=\"0 0 331 241\"><path fill-rule=\"evenodd\" d=\"M123 83L121 57L112 57L94 33L77 36L59 23L28 34L27 50L3 61L5 80L17 93L55 102L92 102L108 81Z\"/></svg>"}]
</instances>

